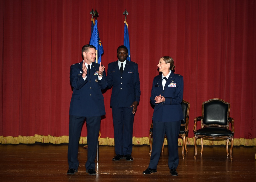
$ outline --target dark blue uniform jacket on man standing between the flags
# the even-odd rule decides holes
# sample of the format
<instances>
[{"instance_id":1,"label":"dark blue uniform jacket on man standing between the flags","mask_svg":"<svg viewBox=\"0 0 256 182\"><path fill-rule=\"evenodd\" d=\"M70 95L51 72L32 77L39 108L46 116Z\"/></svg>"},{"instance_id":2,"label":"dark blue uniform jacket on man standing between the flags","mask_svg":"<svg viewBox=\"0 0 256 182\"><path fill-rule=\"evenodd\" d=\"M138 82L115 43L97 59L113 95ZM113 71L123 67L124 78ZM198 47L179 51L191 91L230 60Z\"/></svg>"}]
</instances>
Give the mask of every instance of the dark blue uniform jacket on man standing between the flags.
<instances>
[{"instance_id":1,"label":"dark blue uniform jacket on man standing between the flags","mask_svg":"<svg viewBox=\"0 0 256 182\"><path fill-rule=\"evenodd\" d=\"M112 87L111 107L130 107L134 101L140 101L140 79L138 64L126 61L121 76L118 61L108 64L108 87Z\"/></svg>"}]
</instances>

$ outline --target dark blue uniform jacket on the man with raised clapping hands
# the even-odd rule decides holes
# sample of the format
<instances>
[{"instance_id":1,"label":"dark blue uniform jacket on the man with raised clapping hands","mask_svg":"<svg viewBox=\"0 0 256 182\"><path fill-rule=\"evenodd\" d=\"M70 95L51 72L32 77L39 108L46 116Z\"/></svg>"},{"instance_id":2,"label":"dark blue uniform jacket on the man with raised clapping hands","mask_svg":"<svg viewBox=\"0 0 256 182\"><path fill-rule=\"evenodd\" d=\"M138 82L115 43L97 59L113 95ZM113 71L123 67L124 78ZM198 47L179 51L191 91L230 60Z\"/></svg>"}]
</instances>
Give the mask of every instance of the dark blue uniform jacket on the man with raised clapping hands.
<instances>
[{"instance_id":1,"label":"dark blue uniform jacket on the man with raised clapping hands","mask_svg":"<svg viewBox=\"0 0 256 182\"><path fill-rule=\"evenodd\" d=\"M70 66L70 83L73 94L70 101L69 115L100 116L106 114L104 97L101 89L107 87L106 72L103 71L102 79L98 79L100 64L93 62L90 75L84 81L82 77L82 62Z\"/></svg>"}]
</instances>

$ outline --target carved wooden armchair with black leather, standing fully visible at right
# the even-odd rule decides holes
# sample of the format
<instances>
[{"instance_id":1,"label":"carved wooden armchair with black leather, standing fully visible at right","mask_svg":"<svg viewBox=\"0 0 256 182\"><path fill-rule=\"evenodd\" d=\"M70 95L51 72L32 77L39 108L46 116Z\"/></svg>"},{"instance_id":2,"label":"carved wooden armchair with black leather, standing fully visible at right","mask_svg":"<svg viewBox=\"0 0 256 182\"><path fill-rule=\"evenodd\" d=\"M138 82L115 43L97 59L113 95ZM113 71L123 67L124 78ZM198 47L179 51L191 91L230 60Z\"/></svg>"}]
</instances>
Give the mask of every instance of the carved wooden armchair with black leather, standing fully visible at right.
<instances>
[{"instance_id":1,"label":"carved wooden armchair with black leather, standing fully visible at right","mask_svg":"<svg viewBox=\"0 0 256 182\"><path fill-rule=\"evenodd\" d=\"M230 140L230 160L232 161L232 148L234 136L234 120L229 117L230 104L222 99L210 99L202 103L202 116L195 118L194 122L194 145L195 156L197 154L196 139L201 138L201 155L203 154L203 138L227 139L226 152ZM201 128L196 129L196 124L201 121ZM231 130L229 125L231 123Z\"/></svg>"}]
</instances>

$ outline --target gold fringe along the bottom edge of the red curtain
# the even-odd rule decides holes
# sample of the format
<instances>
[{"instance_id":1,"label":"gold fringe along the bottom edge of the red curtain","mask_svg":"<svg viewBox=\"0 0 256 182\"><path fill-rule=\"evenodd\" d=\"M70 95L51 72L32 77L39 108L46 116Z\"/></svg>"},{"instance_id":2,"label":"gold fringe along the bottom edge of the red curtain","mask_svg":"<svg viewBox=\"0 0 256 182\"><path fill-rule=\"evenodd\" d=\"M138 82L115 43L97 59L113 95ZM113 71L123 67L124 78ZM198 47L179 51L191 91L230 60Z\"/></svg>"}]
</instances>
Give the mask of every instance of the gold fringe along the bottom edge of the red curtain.
<instances>
[{"instance_id":1,"label":"gold fringe along the bottom edge of the red curtain","mask_svg":"<svg viewBox=\"0 0 256 182\"><path fill-rule=\"evenodd\" d=\"M133 137L133 144L134 145L149 145L148 137L141 137L136 138ZM225 139L217 139L217 140L210 140L210 139L203 139L204 145L226 145ZM0 144L34 144L35 142L41 143L52 143L52 144L62 144L68 143L68 136L44 136L44 135L35 135L35 136L21 136L13 137L13 136L0 136ZM80 137L79 144L87 144L87 137ZM201 140L198 138L196 141L197 145L201 145ZM109 145L114 146L114 138L100 138L99 145ZM164 139L164 145L167 145L167 138ZM194 145L194 138L188 138L187 145ZM229 140L230 145L230 140ZM256 138L253 139L246 139L246 138L234 138L234 146L255 146L256 145ZM182 139L178 139L178 146L182 146ZM255 155L256 158L256 155Z\"/></svg>"}]
</instances>

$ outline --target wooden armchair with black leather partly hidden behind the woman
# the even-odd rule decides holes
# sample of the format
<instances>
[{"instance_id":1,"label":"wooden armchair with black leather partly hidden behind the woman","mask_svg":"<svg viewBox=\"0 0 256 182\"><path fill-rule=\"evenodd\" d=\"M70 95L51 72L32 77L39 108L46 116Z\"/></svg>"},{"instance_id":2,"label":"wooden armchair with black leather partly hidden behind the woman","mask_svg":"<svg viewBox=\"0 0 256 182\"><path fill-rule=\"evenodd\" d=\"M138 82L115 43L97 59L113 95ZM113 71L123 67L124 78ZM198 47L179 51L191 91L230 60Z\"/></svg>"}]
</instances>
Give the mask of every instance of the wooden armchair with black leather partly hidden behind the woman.
<instances>
[{"instance_id":1,"label":"wooden armchair with black leather partly hidden behind the woman","mask_svg":"<svg viewBox=\"0 0 256 182\"><path fill-rule=\"evenodd\" d=\"M182 106L182 111L184 115L184 119L181 120L180 123L180 131L179 131L179 137L182 137L182 158L184 159L185 154L184 154L184 148L186 150L186 154L188 153L187 150L187 141L188 141L188 121L189 121L189 109L190 109L190 103L185 101L184 99L182 100L181 103ZM151 156L152 152L152 135L153 135L153 122L150 125L150 130L149 130L149 144L150 144L150 153L149 155ZM164 152L164 143L162 146L162 152Z\"/></svg>"}]
</instances>

